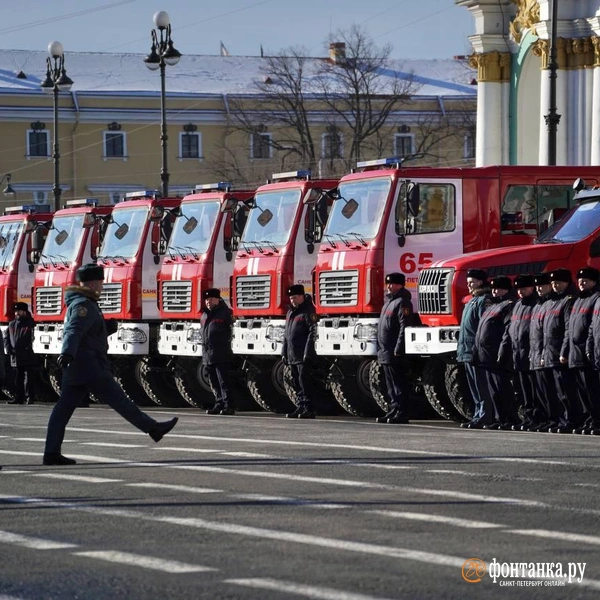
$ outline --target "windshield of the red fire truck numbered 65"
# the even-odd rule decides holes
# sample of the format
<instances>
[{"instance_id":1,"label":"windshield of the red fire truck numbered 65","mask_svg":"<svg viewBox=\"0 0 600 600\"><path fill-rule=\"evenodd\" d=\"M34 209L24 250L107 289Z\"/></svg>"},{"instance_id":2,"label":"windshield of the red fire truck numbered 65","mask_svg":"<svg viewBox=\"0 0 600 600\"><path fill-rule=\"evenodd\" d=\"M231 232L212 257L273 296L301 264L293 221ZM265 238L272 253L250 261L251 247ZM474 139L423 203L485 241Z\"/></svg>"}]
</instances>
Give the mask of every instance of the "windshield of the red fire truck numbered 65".
<instances>
[{"instance_id":1,"label":"windshield of the red fire truck numbered 65","mask_svg":"<svg viewBox=\"0 0 600 600\"><path fill-rule=\"evenodd\" d=\"M341 183L341 198L333 205L325 237L360 236L364 240L373 239L377 235L391 185L389 178Z\"/></svg>"}]
</instances>

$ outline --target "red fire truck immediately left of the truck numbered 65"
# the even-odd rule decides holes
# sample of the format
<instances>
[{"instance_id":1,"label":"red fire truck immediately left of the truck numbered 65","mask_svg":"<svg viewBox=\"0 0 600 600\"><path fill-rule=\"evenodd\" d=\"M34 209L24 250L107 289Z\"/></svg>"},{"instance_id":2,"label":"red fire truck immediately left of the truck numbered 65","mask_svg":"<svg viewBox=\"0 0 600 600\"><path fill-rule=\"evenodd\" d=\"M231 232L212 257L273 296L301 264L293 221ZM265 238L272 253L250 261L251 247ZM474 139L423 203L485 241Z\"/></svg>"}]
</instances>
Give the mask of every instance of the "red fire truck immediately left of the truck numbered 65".
<instances>
[{"instance_id":1,"label":"red fire truck immediately left of the truck numbered 65","mask_svg":"<svg viewBox=\"0 0 600 600\"><path fill-rule=\"evenodd\" d=\"M287 288L312 293L312 271L337 180L310 171L278 173L256 190L235 259L232 283L234 354L244 358L250 393L266 410L293 408L281 361ZM287 393L286 393L287 390ZM326 390L320 405L326 407ZM333 404L333 402L332 402Z\"/></svg>"}]
</instances>

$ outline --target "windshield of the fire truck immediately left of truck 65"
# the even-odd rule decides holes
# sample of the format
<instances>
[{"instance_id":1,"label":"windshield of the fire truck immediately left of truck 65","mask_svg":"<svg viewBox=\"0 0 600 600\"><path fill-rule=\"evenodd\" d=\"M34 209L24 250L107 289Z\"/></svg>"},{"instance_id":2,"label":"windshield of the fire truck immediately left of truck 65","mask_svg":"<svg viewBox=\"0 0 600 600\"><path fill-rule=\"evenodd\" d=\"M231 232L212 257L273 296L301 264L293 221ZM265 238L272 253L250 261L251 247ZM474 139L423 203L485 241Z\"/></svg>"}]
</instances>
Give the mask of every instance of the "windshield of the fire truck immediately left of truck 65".
<instances>
[{"instance_id":1,"label":"windshield of the fire truck immediately left of truck 65","mask_svg":"<svg viewBox=\"0 0 600 600\"><path fill-rule=\"evenodd\" d=\"M248 215L241 243L285 245L300 206L300 192L300 188L296 188L256 194L256 204Z\"/></svg>"}]
</instances>

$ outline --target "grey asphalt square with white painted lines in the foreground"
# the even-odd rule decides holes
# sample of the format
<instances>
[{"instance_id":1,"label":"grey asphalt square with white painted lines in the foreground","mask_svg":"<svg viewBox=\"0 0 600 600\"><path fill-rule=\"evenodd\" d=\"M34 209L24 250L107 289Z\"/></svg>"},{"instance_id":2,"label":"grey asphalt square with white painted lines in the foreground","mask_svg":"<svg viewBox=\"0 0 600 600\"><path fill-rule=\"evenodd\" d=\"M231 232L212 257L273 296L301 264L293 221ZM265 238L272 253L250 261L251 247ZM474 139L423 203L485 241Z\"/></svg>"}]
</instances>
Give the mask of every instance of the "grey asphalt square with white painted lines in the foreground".
<instances>
[{"instance_id":1,"label":"grey asphalt square with white painted lines in the foreground","mask_svg":"<svg viewBox=\"0 0 600 600\"><path fill-rule=\"evenodd\" d=\"M44 467L51 408L0 406L0 600L600 593L600 437L95 406Z\"/></svg>"}]
</instances>

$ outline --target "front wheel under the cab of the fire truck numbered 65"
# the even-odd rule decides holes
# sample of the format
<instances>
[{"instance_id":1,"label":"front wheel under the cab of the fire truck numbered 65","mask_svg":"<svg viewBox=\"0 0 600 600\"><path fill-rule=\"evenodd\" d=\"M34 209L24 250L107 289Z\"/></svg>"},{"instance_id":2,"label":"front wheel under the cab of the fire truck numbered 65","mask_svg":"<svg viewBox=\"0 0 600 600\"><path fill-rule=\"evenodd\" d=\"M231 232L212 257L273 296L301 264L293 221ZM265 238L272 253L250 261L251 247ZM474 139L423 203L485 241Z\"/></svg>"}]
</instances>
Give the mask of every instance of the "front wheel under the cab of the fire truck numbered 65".
<instances>
[{"instance_id":1,"label":"front wheel under the cab of the fire truck numbered 65","mask_svg":"<svg viewBox=\"0 0 600 600\"><path fill-rule=\"evenodd\" d=\"M338 404L357 417L377 417L381 409L369 388L369 369L372 359L340 361L329 371L329 385Z\"/></svg>"}]
</instances>

